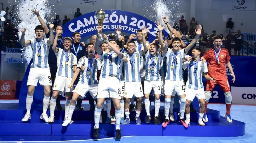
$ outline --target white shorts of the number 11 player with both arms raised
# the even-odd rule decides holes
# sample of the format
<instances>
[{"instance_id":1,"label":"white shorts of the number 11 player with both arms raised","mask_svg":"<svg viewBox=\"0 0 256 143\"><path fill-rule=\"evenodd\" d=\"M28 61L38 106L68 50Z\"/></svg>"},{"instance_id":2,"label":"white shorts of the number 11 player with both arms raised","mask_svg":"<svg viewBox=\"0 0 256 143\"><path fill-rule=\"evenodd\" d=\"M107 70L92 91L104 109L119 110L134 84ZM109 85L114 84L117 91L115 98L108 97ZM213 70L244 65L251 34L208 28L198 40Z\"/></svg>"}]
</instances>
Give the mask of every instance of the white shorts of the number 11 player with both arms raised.
<instances>
[{"instance_id":1,"label":"white shorts of the number 11 player with both arms raised","mask_svg":"<svg viewBox=\"0 0 256 143\"><path fill-rule=\"evenodd\" d=\"M165 95L173 95L173 91L175 90L177 95L185 95L185 85L183 81L172 81L165 80L164 87L168 87L164 89ZM175 94L174 94L175 95Z\"/></svg>"}]
</instances>

